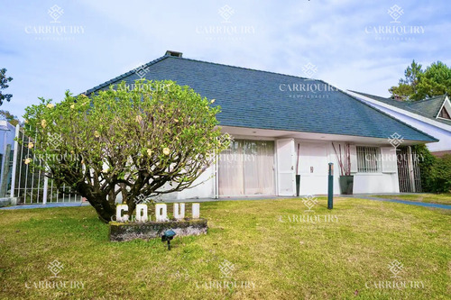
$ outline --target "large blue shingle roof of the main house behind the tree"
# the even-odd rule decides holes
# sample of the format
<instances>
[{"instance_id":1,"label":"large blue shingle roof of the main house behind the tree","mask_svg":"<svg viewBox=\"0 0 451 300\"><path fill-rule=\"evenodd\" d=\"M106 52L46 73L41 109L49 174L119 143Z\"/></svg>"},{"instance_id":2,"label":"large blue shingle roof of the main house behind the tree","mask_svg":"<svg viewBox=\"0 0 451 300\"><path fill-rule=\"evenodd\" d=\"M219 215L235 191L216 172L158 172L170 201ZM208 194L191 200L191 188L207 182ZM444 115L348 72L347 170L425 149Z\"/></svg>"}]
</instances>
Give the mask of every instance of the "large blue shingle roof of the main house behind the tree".
<instances>
[{"instance_id":1,"label":"large blue shingle roof of the main house behind the tree","mask_svg":"<svg viewBox=\"0 0 451 300\"><path fill-rule=\"evenodd\" d=\"M217 120L223 126L321 132L387 139L394 132L404 140L437 141L389 114L364 104L340 90L317 93L282 91L287 86L324 85L321 80L294 77L250 68L226 66L211 62L165 55L142 67L145 77L173 80L190 86L208 99L216 99L222 112ZM140 79L134 71L87 90L87 94L125 81Z\"/></svg>"}]
</instances>

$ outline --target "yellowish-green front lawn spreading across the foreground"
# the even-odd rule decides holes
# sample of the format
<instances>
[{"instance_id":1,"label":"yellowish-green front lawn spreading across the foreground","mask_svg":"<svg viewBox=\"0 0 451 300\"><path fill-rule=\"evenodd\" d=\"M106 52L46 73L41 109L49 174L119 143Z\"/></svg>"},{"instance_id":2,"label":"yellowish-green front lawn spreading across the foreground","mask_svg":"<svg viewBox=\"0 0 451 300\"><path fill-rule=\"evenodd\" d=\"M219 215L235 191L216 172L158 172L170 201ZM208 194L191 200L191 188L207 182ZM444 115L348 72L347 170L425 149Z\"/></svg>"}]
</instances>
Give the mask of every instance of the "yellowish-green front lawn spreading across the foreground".
<instances>
[{"instance_id":1,"label":"yellowish-green front lawn spreading across the foreground","mask_svg":"<svg viewBox=\"0 0 451 300\"><path fill-rule=\"evenodd\" d=\"M207 235L176 237L171 251L107 241L88 206L0 211L0 298L449 299L451 212L341 197L333 211L325 198L305 210L299 199L204 203ZM55 259L64 268L51 278ZM83 286L33 286L45 280ZM225 280L236 286L218 288ZM374 287L386 281L408 288Z\"/></svg>"}]
</instances>

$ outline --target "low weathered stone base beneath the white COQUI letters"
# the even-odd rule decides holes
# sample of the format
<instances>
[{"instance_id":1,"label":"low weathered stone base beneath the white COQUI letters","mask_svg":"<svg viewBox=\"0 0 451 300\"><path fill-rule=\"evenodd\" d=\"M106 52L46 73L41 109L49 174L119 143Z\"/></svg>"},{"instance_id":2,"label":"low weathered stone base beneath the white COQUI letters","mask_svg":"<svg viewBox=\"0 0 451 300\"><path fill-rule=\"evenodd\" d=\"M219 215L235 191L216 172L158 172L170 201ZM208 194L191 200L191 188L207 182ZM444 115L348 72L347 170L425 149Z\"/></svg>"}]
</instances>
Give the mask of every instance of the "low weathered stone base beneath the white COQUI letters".
<instances>
[{"instance_id":1,"label":"low weathered stone base beneath the white COQUI letters","mask_svg":"<svg viewBox=\"0 0 451 300\"><path fill-rule=\"evenodd\" d=\"M133 241L141 239L161 238L163 232L173 230L178 236L199 235L207 233L207 219L171 220L168 222L146 223L109 223L108 237L110 241Z\"/></svg>"}]
</instances>

